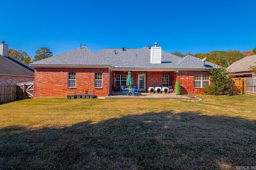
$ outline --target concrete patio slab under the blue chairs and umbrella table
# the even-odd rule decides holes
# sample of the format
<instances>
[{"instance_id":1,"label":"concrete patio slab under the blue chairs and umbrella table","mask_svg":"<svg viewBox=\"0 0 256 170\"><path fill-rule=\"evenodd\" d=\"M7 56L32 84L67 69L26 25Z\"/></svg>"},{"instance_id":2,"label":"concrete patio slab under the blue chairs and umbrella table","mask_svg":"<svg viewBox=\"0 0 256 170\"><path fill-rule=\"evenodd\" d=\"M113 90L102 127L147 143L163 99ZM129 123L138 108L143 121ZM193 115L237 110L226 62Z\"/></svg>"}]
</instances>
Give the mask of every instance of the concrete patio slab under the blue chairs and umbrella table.
<instances>
[{"instance_id":1,"label":"concrete patio slab under the blue chairs and umbrella table","mask_svg":"<svg viewBox=\"0 0 256 170\"><path fill-rule=\"evenodd\" d=\"M106 96L108 98L162 98L162 99L189 99L186 96L176 95L175 93L148 93L148 92L140 92L136 94L136 96L126 96L125 93L122 92L114 92L111 96Z\"/></svg>"}]
</instances>

